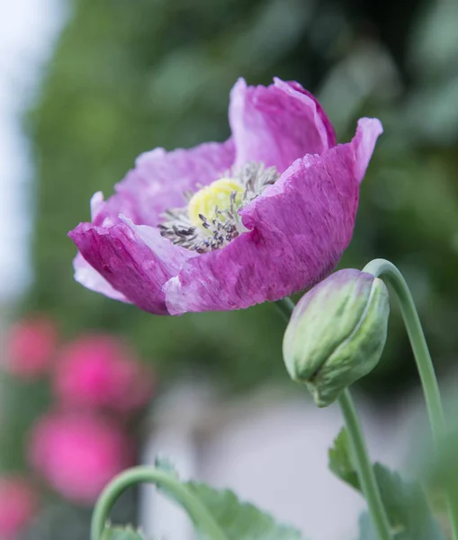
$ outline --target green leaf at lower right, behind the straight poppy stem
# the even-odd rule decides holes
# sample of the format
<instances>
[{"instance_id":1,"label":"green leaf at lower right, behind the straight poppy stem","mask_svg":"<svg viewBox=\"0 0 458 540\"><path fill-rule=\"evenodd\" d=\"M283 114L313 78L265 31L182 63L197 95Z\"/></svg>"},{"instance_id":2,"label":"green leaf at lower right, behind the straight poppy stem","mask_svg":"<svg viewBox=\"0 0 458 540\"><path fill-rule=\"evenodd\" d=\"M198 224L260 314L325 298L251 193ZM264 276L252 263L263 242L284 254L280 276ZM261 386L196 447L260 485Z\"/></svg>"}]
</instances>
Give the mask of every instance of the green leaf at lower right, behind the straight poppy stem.
<instances>
[{"instance_id":1,"label":"green leaf at lower right, behind the straight poppy stem","mask_svg":"<svg viewBox=\"0 0 458 540\"><path fill-rule=\"evenodd\" d=\"M329 469L338 478L361 491L353 464L348 434L342 429L329 450ZM427 498L418 482L406 481L381 464L373 465L383 505L395 540L445 540ZM360 518L359 540L377 540L367 512Z\"/></svg>"}]
</instances>

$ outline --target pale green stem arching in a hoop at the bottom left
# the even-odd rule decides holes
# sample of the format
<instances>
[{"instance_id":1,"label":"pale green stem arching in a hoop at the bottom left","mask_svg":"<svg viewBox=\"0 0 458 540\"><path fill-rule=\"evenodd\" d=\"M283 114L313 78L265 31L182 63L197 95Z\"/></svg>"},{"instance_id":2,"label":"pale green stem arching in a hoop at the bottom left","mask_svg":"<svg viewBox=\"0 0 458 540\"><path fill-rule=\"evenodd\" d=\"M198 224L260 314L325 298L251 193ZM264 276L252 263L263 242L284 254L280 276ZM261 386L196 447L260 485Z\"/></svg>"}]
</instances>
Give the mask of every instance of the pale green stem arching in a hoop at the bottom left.
<instances>
[{"instance_id":1,"label":"pale green stem arching in a hoop at the bottom left","mask_svg":"<svg viewBox=\"0 0 458 540\"><path fill-rule=\"evenodd\" d=\"M220 526L211 517L210 512L202 502L182 482L169 473L159 471L154 467L134 467L121 473L103 490L95 505L91 523L91 540L101 540L105 523L110 511L121 495L131 485L139 482L152 482L157 487L165 488L179 502L192 519L193 524L202 530L211 540L228 540Z\"/></svg>"}]
</instances>

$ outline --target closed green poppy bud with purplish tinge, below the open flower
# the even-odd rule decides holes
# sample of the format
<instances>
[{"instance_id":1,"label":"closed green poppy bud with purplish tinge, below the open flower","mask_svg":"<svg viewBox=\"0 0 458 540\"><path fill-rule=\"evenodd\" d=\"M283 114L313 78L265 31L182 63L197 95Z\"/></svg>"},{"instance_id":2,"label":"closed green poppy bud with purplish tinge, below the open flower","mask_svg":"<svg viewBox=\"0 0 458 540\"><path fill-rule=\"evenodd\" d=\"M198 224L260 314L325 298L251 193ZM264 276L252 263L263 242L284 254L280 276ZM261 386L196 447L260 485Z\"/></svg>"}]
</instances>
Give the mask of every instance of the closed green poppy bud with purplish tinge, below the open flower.
<instances>
[{"instance_id":1,"label":"closed green poppy bud with purplish tinge, below the open flower","mask_svg":"<svg viewBox=\"0 0 458 540\"><path fill-rule=\"evenodd\" d=\"M319 407L377 365L387 336L389 294L381 279L340 270L304 294L283 338L293 381L304 383Z\"/></svg>"}]
</instances>

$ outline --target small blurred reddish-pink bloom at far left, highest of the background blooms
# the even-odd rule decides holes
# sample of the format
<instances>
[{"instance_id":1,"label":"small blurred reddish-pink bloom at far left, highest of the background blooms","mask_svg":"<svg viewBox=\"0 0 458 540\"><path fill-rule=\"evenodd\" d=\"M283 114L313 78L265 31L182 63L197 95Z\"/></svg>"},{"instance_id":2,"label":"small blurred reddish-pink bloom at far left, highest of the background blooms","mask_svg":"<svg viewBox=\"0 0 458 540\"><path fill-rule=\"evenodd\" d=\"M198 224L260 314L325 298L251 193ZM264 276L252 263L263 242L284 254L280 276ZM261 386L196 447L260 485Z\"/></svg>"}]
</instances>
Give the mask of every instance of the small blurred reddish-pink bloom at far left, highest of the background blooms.
<instances>
[{"instance_id":1,"label":"small blurred reddish-pink bloom at far left, highest of the background blooms","mask_svg":"<svg viewBox=\"0 0 458 540\"><path fill-rule=\"evenodd\" d=\"M49 369L58 345L51 320L34 316L19 320L6 335L5 369L18 377L36 378Z\"/></svg>"}]
</instances>

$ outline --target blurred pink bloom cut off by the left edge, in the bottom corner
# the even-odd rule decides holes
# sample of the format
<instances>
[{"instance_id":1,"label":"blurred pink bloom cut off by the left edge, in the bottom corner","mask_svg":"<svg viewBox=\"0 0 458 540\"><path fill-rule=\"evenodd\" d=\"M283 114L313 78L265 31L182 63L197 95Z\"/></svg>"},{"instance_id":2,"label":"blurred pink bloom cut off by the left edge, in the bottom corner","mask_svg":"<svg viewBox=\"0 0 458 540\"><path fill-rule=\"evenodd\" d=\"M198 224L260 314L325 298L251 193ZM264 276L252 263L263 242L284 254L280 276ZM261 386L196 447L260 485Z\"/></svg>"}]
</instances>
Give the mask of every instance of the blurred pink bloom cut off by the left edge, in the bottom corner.
<instances>
[{"instance_id":1,"label":"blurred pink bloom cut off by the left edge, in the bottom corner","mask_svg":"<svg viewBox=\"0 0 458 540\"><path fill-rule=\"evenodd\" d=\"M35 491L22 478L0 478L0 539L16 540L37 508Z\"/></svg>"}]
</instances>

